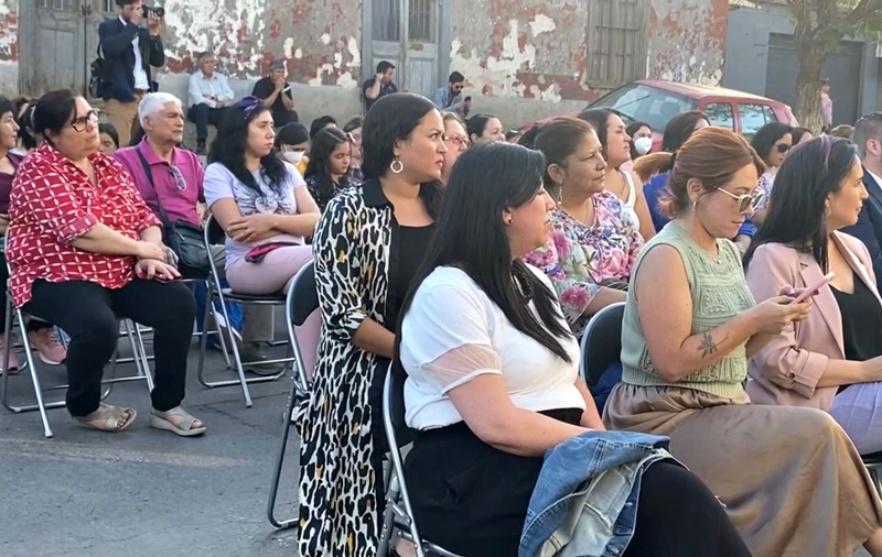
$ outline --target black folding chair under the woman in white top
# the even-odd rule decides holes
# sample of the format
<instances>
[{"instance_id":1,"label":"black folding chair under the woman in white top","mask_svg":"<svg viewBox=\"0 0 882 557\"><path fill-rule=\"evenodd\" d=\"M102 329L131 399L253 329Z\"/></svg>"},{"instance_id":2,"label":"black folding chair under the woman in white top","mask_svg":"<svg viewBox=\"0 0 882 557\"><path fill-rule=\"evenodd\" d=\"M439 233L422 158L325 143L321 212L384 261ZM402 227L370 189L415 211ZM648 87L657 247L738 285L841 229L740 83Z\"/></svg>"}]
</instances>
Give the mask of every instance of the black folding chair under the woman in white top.
<instances>
[{"instance_id":1,"label":"black folding chair under the woman in white top","mask_svg":"<svg viewBox=\"0 0 882 557\"><path fill-rule=\"evenodd\" d=\"M394 531L400 536L412 543L417 548L417 556L424 557L428 554L441 557L459 557L443 547L437 546L431 542L422 539L417 521L413 518L413 510L410 506L410 496L405 481L405 465L401 460L401 451L398 448L395 428L404 428L405 425L405 383L401 378L396 376L391 370L386 374L386 382L383 385L383 427L386 430L386 439L389 443L389 460L391 461L391 474L386 490L386 512L380 531L379 551L377 555L386 556L391 546ZM493 504L491 501L487 504Z\"/></svg>"}]
</instances>

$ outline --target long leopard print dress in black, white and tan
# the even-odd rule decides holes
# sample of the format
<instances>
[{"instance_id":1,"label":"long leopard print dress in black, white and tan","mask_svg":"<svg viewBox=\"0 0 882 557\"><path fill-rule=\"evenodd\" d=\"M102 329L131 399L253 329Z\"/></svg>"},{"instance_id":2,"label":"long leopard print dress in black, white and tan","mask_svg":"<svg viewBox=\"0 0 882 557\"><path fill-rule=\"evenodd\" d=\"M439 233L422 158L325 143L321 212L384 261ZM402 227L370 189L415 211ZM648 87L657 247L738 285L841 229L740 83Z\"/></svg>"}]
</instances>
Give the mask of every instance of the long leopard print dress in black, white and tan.
<instances>
[{"instance_id":1,"label":"long leopard print dress in black, white and tan","mask_svg":"<svg viewBox=\"0 0 882 557\"><path fill-rule=\"evenodd\" d=\"M384 325L392 207L378 181L344 190L313 242L322 331L313 387L298 408L299 548L304 557L377 554L378 474L368 390L385 360L352 343L365 318Z\"/></svg>"}]
</instances>

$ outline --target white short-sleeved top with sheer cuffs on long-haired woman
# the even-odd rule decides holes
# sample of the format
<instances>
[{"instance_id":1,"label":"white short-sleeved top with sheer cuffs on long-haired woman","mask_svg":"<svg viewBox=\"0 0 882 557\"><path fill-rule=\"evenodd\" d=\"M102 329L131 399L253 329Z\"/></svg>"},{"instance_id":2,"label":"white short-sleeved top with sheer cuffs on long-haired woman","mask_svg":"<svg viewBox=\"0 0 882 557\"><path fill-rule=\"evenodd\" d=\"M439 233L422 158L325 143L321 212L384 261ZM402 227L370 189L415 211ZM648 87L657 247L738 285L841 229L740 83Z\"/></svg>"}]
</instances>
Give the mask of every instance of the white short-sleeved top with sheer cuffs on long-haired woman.
<instances>
[{"instance_id":1,"label":"white short-sleeved top with sheer cuffs on long-haired woman","mask_svg":"<svg viewBox=\"0 0 882 557\"><path fill-rule=\"evenodd\" d=\"M534 271L553 292L545 274ZM420 284L401 325L407 425L432 429L462 422L447 393L485 373L503 376L519 408L584 409L576 387L579 345L562 343L572 363L515 329L465 272L435 269Z\"/></svg>"}]
</instances>

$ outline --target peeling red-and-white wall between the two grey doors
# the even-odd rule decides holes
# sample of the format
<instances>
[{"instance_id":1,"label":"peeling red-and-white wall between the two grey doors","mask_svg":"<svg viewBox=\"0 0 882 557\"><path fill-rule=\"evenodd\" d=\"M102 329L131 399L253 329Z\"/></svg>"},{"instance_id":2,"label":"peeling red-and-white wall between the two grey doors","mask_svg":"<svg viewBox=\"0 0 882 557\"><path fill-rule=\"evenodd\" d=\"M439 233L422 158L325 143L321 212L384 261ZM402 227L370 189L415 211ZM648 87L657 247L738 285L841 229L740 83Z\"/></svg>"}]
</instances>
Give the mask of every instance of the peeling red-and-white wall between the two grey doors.
<instances>
[{"instance_id":1,"label":"peeling red-and-white wall between the two grey doors","mask_svg":"<svg viewBox=\"0 0 882 557\"><path fill-rule=\"evenodd\" d=\"M362 74L359 0L165 0L168 69L216 53L233 78L263 75L286 58L291 80L356 87Z\"/></svg>"}]
</instances>

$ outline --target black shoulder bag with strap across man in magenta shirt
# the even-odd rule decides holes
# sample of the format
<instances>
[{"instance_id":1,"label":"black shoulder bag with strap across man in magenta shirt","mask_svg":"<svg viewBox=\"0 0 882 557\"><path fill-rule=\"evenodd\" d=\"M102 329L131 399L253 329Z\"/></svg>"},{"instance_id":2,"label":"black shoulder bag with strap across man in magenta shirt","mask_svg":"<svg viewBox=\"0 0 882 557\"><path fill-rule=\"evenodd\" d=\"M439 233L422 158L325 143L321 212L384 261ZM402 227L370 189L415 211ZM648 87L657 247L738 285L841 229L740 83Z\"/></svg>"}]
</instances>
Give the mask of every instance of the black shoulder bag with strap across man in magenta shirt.
<instances>
[{"instance_id":1,"label":"black shoulder bag with strap across man in magenta shirt","mask_svg":"<svg viewBox=\"0 0 882 557\"><path fill-rule=\"evenodd\" d=\"M138 153L138 159L141 160L141 166L143 166L147 179L150 181L150 187L153 188L153 194L157 196L159 217L162 220L162 241L178 255L178 271L181 272L184 278L204 278L208 276L212 269L208 261L211 254L205 248L203 228L186 220L175 220L174 222L169 220L169 215L159 198L157 185L153 183L150 165L147 163L143 153L141 153L141 146L138 145L135 150Z\"/></svg>"}]
</instances>

